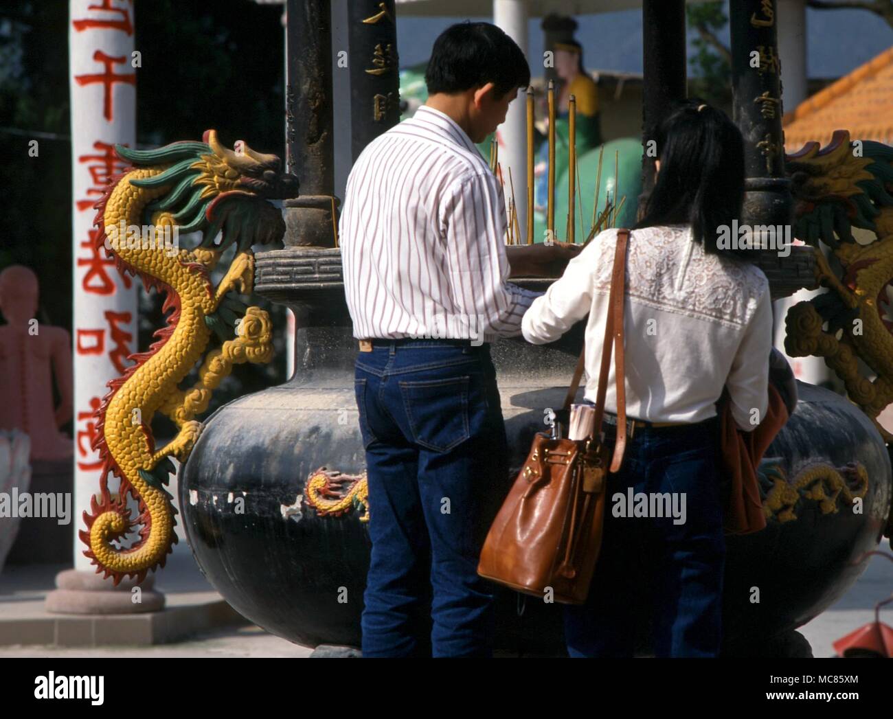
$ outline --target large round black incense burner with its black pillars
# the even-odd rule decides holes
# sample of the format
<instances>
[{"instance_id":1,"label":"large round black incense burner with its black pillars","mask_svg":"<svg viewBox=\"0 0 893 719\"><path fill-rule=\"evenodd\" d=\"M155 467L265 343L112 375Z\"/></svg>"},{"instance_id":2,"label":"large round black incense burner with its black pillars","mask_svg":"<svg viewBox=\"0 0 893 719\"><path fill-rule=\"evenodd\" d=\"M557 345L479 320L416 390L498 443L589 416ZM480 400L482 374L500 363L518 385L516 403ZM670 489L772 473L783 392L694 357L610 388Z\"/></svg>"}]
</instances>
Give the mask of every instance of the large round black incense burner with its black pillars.
<instances>
[{"instance_id":1,"label":"large round black incense burner with its black pillars","mask_svg":"<svg viewBox=\"0 0 893 719\"><path fill-rule=\"evenodd\" d=\"M333 237L338 199L330 4L287 2L287 160L288 170L299 177L301 195L283 204L286 248L257 255L255 289L295 313L296 372L280 387L221 407L204 423L180 470L179 500L198 564L241 614L302 644L357 646L369 563L369 508L354 394L359 349ZM778 111L773 5L765 0L730 4L733 114L745 138L742 220L750 225L788 224L794 215ZM351 63L354 160L399 114L396 66L388 68L380 52L381 47L396 48L394 10L393 0L349 4L352 56L378 58L379 63L374 72L368 63ZM642 0L642 13L647 143L672 101L686 96L685 3ZM748 63L754 47L765 56L758 68ZM808 187L810 179L827 170L822 164L827 153L816 155L814 149L794 156L797 188L805 200L800 213L811 211L821 190ZM644 195L653 187L654 163L648 154L643 157ZM873 196L885 194L876 189ZM837 201L833 193L825 199ZM793 249L783 260L761 264L774 297L815 287L812 248ZM546 288L549 281L519 284ZM844 286L837 282L835 287L842 292ZM854 306L852 297L844 299L849 304L840 312ZM829 320L818 316L821 309L833 306L826 302L814 315L801 313L801 334L810 330L805 320L813 318L819 328ZM546 346L502 339L491 347L511 467L505 477L475 478L481 492L505 495L533 433L545 428L548 408L562 405L583 326L578 323ZM814 354L810 337L801 340L803 354ZM822 339L822 346L830 341ZM797 644L795 628L830 606L864 571L861 557L880 540L889 514L890 461L872 422L830 391L799 389L796 411L760 466L768 526L727 543L724 652L729 655L808 653L805 642ZM598 589L598 576L594 581ZM563 650L561 606L506 590L497 615L499 648ZM647 653L644 608L640 616L639 645Z\"/></svg>"}]
</instances>

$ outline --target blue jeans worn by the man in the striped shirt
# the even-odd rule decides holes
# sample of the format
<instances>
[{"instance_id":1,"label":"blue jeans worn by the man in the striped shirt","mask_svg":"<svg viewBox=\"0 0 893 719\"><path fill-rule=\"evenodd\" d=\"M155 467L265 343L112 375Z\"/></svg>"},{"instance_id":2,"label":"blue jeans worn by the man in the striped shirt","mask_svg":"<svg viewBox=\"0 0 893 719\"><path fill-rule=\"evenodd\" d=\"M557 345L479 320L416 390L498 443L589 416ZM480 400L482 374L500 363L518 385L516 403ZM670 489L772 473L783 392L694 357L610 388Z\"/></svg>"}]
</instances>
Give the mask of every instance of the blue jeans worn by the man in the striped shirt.
<instances>
[{"instance_id":1,"label":"blue jeans worn by the man in the striped shirt","mask_svg":"<svg viewBox=\"0 0 893 719\"><path fill-rule=\"evenodd\" d=\"M363 656L489 656L496 587L477 566L509 485L489 346L379 340L357 355L355 391L372 543Z\"/></svg>"}]
</instances>

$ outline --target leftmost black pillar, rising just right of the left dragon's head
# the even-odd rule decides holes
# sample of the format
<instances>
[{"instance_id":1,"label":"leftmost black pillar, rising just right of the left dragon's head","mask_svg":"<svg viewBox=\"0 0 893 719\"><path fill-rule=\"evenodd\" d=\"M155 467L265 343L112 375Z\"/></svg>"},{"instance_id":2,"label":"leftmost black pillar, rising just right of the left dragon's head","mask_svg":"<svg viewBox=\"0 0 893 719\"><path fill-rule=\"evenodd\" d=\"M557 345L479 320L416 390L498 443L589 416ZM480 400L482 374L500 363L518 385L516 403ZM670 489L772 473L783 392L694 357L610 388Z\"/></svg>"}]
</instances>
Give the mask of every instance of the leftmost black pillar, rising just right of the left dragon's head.
<instances>
[{"instance_id":1,"label":"leftmost black pillar, rising just right of the left dragon's head","mask_svg":"<svg viewBox=\"0 0 893 719\"><path fill-rule=\"evenodd\" d=\"M286 200L288 247L335 247L330 0L288 0L286 155L301 195Z\"/></svg>"}]
</instances>

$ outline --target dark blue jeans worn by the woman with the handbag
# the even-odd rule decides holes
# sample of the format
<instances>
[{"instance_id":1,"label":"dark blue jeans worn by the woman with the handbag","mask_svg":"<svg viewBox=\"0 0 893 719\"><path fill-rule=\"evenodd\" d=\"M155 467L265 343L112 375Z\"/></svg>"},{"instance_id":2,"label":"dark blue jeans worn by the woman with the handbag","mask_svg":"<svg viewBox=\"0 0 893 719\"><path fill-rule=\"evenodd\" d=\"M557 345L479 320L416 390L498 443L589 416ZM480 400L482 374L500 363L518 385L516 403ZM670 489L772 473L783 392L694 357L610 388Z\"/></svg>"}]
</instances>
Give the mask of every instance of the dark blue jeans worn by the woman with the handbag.
<instances>
[{"instance_id":1,"label":"dark blue jeans worn by the woman with the handbag","mask_svg":"<svg viewBox=\"0 0 893 719\"><path fill-rule=\"evenodd\" d=\"M604 426L613 447L616 428ZM725 560L719 447L715 417L637 428L628 439L621 471L608 475L605 531L587 603L564 610L571 656L633 656L637 623L648 615L655 656L718 656ZM684 494L685 521L650 500L650 516L630 515L630 488L634 498L675 494L676 508Z\"/></svg>"}]
</instances>

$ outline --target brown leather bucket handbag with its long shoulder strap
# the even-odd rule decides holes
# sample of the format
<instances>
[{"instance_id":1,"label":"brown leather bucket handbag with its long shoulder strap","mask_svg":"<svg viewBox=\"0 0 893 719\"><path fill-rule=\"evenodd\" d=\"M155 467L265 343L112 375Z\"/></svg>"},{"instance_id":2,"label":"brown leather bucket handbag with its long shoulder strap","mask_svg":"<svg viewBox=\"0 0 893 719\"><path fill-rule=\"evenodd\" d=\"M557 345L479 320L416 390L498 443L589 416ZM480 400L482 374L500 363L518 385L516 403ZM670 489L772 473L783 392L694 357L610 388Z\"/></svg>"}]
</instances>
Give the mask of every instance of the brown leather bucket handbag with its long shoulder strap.
<instances>
[{"instance_id":1,"label":"brown leather bucket handbag with its long shoulder strap","mask_svg":"<svg viewBox=\"0 0 893 719\"><path fill-rule=\"evenodd\" d=\"M629 237L630 230L617 233L594 429L586 439L552 439L537 432L480 552L480 576L537 597L545 597L551 589L552 598L562 604L586 601L602 543L606 475L620 470L626 447L623 293ZM617 380L613 459L601 432L612 345ZM580 352L564 400L565 412L580 384L585 351L584 347Z\"/></svg>"}]
</instances>

